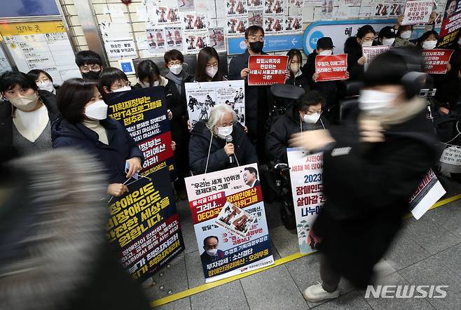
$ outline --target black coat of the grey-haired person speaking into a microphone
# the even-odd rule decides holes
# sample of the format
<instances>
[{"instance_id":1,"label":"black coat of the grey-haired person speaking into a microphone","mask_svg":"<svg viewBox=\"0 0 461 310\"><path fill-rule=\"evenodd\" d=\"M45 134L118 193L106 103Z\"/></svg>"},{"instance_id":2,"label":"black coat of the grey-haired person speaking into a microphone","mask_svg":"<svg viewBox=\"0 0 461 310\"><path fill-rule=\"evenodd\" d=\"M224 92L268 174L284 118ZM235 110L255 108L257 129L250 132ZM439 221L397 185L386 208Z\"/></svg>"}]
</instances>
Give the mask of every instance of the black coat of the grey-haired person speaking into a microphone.
<instances>
[{"instance_id":1,"label":"black coat of the grey-haired person speaking into a microphone","mask_svg":"<svg viewBox=\"0 0 461 310\"><path fill-rule=\"evenodd\" d=\"M234 145L235 156L240 165L258 162L256 150L254 150L254 146L249 141L240 123L237 122L234 124L231 136L233 138L232 143ZM205 173L210 140L212 140L212 147L209 151L207 172L234 167L234 164L229 163L229 157L224 151L226 141L216 136L212 137L212 133L205 122L200 121L193 127L191 141L189 141L189 160L191 170L194 174Z\"/></svg>"}]
</instances>

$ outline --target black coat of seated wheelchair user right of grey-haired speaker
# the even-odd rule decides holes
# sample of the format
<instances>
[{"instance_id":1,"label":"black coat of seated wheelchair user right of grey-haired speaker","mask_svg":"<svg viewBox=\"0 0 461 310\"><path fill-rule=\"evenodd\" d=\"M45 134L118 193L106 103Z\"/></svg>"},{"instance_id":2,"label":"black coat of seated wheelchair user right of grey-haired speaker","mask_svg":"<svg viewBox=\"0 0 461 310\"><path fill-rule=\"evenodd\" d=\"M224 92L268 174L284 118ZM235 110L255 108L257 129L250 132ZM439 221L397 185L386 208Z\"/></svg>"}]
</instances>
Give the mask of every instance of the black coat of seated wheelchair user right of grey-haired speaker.
<instances>
[{"instance_id":1,"label":"black coat of seated wheelchair user right of grey-haired speaker","mask_svg":"<svg viewBox=\"0 0 461 310\"><path fill-rule=\"evenodd\" d=\"M320 116L320 119L315 124L308 124L301 121L298 109L294 105L291 105L284 115L277 118L266 136L266 152L268 153L269 160L288 163L288 141L292 134L301 132L301 125L303 126L303 131L327 127L323 116Z\"/></svg>"}]
</instances>

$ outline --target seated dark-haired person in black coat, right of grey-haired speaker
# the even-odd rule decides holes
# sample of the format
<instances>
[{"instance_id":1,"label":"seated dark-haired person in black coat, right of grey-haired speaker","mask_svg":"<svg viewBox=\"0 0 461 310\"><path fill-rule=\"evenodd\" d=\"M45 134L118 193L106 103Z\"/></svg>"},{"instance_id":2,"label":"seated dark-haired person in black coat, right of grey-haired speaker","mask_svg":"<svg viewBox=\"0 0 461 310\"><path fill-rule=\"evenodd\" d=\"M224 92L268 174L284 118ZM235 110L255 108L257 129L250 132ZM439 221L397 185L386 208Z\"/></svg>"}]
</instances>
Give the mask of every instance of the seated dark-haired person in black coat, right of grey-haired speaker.
<instances>
[{"instance_id":1,"label":"seated dark-haired person in black coat, right of grey-haired speaker","mask_svg":"<svg viewBox=\"0 0 461 310\"><path fill-rule=\"evenodd\" d=\"M293 134L315 129L326 129L328 122L322 115L325 99L315 90L291 104L284 115L277 118L266 138L269 160L288 164L288 141Z\"/></svg>"}]
</instances>

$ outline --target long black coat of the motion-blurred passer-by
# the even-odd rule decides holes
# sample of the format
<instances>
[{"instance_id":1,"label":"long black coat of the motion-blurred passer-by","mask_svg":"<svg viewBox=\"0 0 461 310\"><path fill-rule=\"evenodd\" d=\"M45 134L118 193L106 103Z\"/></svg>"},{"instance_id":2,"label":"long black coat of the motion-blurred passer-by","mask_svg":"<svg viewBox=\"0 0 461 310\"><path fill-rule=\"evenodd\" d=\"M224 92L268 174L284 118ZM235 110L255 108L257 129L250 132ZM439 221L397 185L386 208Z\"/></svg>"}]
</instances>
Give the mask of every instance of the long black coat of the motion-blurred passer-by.
<instances>
[{"instance_id":1,"label":"long black coat of the motion-blurred passer-by","mask_svg":"<svg viewBox=\"0 0 461 310\"><path fill-rule=\"evenodd\" d=\"M357 129L338 129L333 150L350 150L324 152L326 203L313 230L323 238L319 249L329 265L364 287L401 227L408 199L436 162L436 139L425 111L392 125L383 143L359 144Z\"/></svg>"}]
</instances>

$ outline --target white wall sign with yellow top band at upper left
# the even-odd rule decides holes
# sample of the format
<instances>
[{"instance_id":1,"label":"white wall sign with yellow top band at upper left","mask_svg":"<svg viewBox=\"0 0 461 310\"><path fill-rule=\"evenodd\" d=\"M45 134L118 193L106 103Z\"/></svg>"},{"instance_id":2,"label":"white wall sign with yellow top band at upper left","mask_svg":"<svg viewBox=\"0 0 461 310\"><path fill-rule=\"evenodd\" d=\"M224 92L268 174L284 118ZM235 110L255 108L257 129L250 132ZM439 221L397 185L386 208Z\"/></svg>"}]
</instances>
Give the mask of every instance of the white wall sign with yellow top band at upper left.
<instances>
[{"instance_id":1,"label":"white wall sign with yellow top band at upper left","mask_svg":"<svg viewBox=\"0 0 461 310\"><path fill-rule=\"evenodd\" d=\"M69 78L81 78L62 21L2 22L0 34L19 71L44 70L57 85Z\"/></svg>"}]
</instances>

